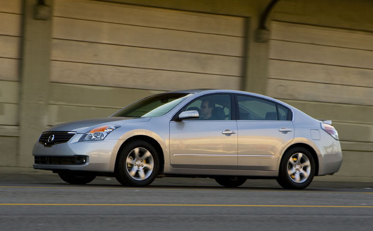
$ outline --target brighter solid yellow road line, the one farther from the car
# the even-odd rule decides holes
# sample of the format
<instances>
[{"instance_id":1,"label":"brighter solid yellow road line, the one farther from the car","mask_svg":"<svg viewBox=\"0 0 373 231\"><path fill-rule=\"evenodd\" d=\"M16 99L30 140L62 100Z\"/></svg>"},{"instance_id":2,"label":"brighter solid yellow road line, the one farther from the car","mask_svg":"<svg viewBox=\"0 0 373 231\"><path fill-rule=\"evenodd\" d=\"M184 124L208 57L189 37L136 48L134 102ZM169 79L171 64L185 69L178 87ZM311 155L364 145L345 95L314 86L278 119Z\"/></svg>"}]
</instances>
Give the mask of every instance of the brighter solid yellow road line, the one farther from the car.
<instances>
[{"instance_id":1,"label":"brighter solid yellow road line, the one farther from the car","mask_svg":"<svg viewBox=\"0 0 373 231\"><path fill-rule=\"evenodd\" d=\"M202 207L318 207L373 208L368 205L198 205L198 204L0 204L0 206L202 206Z\"/></svg>"}]
</instances>

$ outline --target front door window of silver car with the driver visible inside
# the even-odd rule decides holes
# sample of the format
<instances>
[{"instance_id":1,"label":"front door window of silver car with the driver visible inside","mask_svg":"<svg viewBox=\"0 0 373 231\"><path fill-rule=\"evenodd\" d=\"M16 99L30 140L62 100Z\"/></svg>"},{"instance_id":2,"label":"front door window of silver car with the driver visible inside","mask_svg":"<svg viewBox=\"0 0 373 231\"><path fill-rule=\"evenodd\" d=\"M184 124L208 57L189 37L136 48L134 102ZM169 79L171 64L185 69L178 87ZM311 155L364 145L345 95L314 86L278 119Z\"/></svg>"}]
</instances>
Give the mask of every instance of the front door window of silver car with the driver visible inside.
<instances>
[{"instance_id":1,"label":"front door window of silver car with the driver visible inside","mask_svg":"<svg viewBox=\"0 0 373 231\"><path fill-rule=\"evenodd\" d=\"M183 107L182 111L198 111L200 117L191 120L231 120L231 96L215 94L200 97Z\"/></svg>"}]
</instances>

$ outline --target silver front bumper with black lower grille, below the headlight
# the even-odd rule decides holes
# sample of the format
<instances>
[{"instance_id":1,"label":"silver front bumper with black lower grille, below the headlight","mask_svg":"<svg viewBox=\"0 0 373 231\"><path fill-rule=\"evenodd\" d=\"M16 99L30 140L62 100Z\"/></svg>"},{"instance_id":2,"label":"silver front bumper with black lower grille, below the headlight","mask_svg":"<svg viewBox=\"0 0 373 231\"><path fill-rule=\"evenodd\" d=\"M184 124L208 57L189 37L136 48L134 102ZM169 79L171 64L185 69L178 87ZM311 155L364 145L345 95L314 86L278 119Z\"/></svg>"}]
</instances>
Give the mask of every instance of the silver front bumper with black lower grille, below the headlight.
<instances>
[{"instance_id":1,"label":"silver front bumper with black lower grille, below the headlight","mask_svg":"<svg viewBox=\"0 0 373 231\"><path fill-rule=\"evenodd\" d=\"M118 140L81 141L83 134L75 134L68 142L50 147L37 142L32 150L34 169L114 172ZM84 157L85 161L73 162Z\"/></svg>"}]
</instances>

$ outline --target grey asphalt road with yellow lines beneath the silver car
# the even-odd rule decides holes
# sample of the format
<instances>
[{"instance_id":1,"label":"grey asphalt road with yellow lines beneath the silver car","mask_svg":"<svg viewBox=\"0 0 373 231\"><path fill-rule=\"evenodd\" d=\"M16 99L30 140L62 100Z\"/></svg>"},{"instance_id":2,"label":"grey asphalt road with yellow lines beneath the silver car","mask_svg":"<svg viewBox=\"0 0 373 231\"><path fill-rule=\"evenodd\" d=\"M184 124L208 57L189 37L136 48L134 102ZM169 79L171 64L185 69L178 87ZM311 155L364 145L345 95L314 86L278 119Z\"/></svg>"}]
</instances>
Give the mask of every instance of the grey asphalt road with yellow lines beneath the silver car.
<instances>
[{"instance_id":1,"label":"grey asphalt road with yellow lines beneath the silver car","mask_svg":"<svg viewBox=\"0 0 373 231\"><path fill-rule=\"evenodd\" d=\"M52 174L0 173L0 230L373 230L373 183L275 180L224 188L211 179L122 187L100 177L70 185Z\"/></svg>"}]
</instances>

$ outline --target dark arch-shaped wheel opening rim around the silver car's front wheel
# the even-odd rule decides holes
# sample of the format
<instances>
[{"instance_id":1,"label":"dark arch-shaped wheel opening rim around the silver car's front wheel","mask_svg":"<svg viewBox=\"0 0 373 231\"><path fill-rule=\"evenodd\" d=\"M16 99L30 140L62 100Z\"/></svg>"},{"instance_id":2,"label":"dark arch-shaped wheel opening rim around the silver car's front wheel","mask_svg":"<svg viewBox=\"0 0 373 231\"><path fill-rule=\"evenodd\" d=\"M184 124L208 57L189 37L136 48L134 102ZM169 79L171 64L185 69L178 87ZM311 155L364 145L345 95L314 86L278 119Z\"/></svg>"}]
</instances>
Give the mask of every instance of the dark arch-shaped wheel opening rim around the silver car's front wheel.
<instances>
[{"instance_id":1,"label":"dark arch-shaped wheel opening rim around the silver car's front wheel","mask_svg":"<svg viewBox=\"0 0 373 231\"><path fill-rule=\"evenodd\" d=\"M122 152L122 150L124 149L124 147L135 141L135 140L142 140L142 141L146 141L148 142L149 144L151 144L157 151L157 155L159 157L159 160L160 160L160 168L159 168L159 172L158 172L158 175L161 174L163 172L163 169L164 169L164 154L163 154L163 150L160 146L160 144L158 143L157 140L155 140L154 138L150 137L150 136L147 136L147 135L135 135L135 136L132 136L130 138L128 138L126 141L124 141L122 143L122 145L120 146L119 150L118 150L118 153L116 155L116 159L115 159L115 167L114 167L114 172L117 168L117 162L118 162L118 157L119 157L119 154Z\"/></svg>"}]
</instances>

